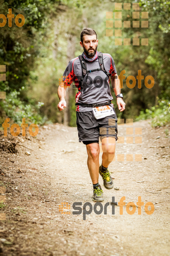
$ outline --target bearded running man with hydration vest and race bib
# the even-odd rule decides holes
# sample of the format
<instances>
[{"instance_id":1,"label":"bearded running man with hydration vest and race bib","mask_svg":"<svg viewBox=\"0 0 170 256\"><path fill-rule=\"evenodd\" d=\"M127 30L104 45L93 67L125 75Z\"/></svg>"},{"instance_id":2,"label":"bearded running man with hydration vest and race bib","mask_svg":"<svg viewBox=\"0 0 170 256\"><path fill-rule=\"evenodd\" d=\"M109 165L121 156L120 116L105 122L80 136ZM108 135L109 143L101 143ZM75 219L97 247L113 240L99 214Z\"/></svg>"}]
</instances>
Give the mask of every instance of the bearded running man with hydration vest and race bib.
<instances>
[{"instance_id":1,"label":"bearded running man with hydration vest and race bib","mask_svg":"<svg viewBox=\"0 0 170 256\"><path fill-rule=\"evenodd\" d=\"M111 78L120 111L125 109L120 81L117 76L115 62L108 53L97 51L97 34L92 28L82 30L80 45L82 55L70 60L63 76L63 86L58 87L58 109L66 107L66 89L72 82L78 88L76 94L76 116L79 142L83 142L87 149L87 166L93 184L92 200L103 202L103 190L98 182L99 173L103 185L107 189L114 187L108 171L108 165L115 156L115 142L117 140L117 116L111 103L113 97L110 92ZM102 143L102 163L99 164L99 138Z\"/></svg>"}]
</instances>

